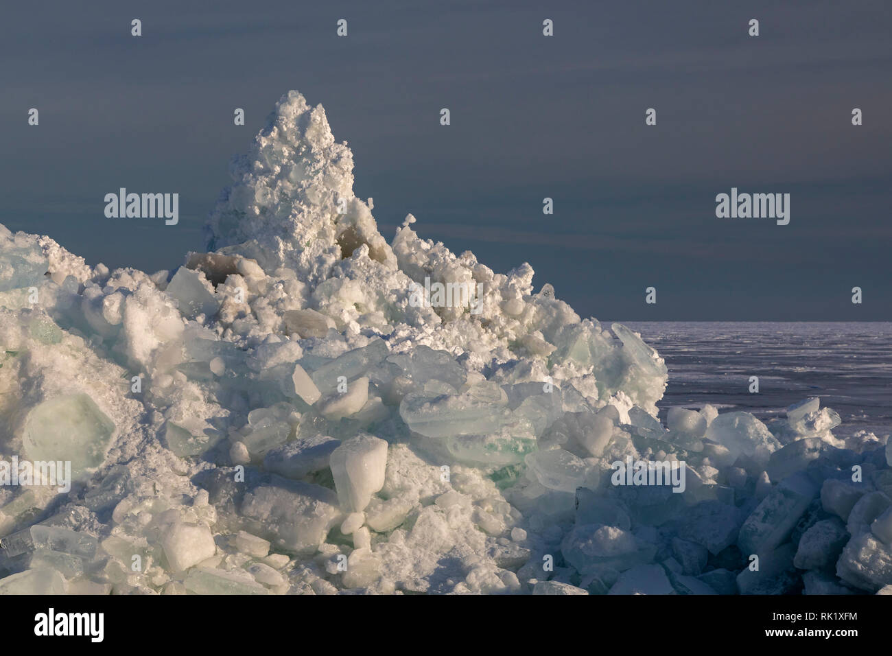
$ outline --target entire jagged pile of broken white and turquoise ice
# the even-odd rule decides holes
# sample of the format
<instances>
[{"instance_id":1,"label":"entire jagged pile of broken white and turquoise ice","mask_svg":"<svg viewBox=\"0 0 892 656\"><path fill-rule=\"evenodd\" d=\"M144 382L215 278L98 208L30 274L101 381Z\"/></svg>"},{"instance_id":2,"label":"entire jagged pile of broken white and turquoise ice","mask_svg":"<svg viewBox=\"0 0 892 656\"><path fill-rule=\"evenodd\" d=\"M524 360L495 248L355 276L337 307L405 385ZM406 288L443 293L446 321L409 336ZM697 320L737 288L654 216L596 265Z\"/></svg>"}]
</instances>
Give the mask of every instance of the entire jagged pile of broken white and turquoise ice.
<instances>
[{"instance_id":1,"label":"entire jagged pile of broken white and turquoise ice","mask_svg":"<svg viewBox=\"0 0 892 656\"><path fill-rule=\"evenodd\" d=\"M816 399L771 426L707 406L664 428L640 336L411 216L388 244L296 92L233 179L209 253L172 273L0 226L0 592L892 584L889 454L836 439ZM425 278L475 285L475 311ZM22 461L70 462L70 490L10 485ZM683 462L683 491L616 485L632 461Z\"/></svg>"}]
</instances>

